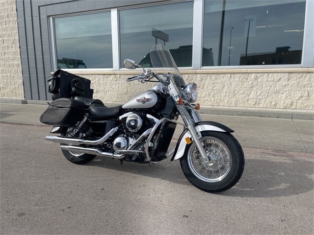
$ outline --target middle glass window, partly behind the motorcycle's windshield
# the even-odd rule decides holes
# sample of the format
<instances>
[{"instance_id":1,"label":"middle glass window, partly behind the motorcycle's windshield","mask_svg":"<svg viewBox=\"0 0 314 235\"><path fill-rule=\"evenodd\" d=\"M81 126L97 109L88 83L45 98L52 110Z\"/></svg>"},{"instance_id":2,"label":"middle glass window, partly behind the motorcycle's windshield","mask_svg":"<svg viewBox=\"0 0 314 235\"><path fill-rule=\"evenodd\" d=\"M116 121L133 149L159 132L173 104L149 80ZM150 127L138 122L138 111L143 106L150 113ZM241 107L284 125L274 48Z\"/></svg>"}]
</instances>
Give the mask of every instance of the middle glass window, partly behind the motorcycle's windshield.
<instances>
[{"instance_id":1,"label":"middle glass window, partly behind the motorcycle's windshield","mask_svg":"<svg viewBox=\"0 0 314 235\"><path fill-rule=\"evenodd\" d=\"M192 66L192 1L120 10L119 24L121 65L129 58L152 67L151 47L164 44L178 67Z\"/></svg>"}]
</instances>

